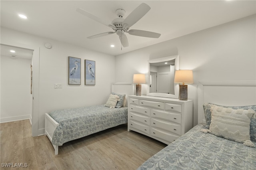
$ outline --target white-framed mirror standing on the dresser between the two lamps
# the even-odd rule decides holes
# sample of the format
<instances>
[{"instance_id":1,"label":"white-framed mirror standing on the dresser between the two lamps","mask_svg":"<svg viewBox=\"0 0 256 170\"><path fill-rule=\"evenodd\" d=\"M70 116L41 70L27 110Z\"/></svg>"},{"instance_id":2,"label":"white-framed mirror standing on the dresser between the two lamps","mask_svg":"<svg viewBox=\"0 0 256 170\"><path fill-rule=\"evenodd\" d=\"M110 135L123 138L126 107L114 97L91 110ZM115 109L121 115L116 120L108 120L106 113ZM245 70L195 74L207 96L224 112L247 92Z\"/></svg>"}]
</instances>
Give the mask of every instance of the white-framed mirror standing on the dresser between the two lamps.
<instances>
[{"instance_id":1,"label":"white-framed mirror standing on the dresser between the two lamps","mask_svg":"<svg viewBox=\"0 0 256 170\"><path fill-rule=\"evenodd\" d=\"M148 60L148 96L179 98L179 84L174 83L179 69L179 55Z\"/></svg>"}]
</instances>

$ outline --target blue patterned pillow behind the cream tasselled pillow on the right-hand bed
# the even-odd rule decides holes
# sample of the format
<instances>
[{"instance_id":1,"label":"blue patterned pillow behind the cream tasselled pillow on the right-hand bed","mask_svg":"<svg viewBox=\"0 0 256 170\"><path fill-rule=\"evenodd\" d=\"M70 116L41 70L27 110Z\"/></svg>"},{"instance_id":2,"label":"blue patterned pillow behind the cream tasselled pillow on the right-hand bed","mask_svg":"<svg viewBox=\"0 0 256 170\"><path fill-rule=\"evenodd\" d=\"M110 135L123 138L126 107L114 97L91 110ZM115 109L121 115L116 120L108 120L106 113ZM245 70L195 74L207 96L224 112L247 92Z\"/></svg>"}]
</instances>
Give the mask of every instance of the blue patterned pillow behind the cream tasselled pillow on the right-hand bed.
<instances>
[{"instance_id":1,"label":"blue patterned pillow behind the cream tasselled pillow on the right-hand bed","mask_svg":"<svg viewBox=\"0 0 256 170\"><path fill-rule=\"evenodd\" d=\"M211 124L211 119L212 119L212 112L211 112L211 107L212 105L216 105L213 103L204 103L203 108L204 108L204 115L206 118L206 125L204 125L206 128L210 127ZM222 106L222 105L216 105L219 107L224 107L224 108L232 108L232 109L244 109L244 110L249 110L252 109L256 111L256 105L250 105L250 106ZM254 114L251 118L251 123L250 123L250 139L256 141L256 115Z\"/></svg>"}]
</instances>

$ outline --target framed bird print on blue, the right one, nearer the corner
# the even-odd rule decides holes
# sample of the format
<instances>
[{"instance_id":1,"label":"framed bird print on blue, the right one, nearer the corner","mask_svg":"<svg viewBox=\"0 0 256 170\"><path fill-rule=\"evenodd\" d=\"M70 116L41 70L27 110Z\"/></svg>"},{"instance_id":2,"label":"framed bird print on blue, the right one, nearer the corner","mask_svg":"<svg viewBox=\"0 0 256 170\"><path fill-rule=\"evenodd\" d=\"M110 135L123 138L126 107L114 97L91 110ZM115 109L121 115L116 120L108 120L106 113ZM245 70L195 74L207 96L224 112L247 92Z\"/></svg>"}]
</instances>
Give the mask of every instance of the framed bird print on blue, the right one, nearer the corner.
<instances>
[{"instance_id":1,"label":"framed bird print on blue, the right one, nearer the corner","mask_svg":"<svg viewBox=\"0 0 256 170\"><path fill-rule=\"evenodd\" d=\"M84 60L85 85L95 85L95 61Z\"/></svg>"}]
</instances>

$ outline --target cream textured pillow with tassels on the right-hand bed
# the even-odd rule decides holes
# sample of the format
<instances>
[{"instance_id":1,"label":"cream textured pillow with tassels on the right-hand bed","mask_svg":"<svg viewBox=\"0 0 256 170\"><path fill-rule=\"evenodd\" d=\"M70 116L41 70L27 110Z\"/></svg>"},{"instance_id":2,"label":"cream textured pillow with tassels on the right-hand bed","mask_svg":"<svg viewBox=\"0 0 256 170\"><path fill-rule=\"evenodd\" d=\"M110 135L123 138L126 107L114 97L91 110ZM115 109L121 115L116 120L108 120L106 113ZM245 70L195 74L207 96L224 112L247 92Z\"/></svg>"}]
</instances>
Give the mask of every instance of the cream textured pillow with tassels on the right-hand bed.
<instances>
[{"instance_id":1,"label":"cream textured pillow with tassels on the right-hand bed","mask_svg":"<svg viewBox=\"0 0 256 170\"><path fill-rule=\"evenodd\" d=\"M211 107L211 111L210 133L254 147L250 141L250 121L256 113L255 111L224 108L216 105Z\"/></svg>"}]
</instances>

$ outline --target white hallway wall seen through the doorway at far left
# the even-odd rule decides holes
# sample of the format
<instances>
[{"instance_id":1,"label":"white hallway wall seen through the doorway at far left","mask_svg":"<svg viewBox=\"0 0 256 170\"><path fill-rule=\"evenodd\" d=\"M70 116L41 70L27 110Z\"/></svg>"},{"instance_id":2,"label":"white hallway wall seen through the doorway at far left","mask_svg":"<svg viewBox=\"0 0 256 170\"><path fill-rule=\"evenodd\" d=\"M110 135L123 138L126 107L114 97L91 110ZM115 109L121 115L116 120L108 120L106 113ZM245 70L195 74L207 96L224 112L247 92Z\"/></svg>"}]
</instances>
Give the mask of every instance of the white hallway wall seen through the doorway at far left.
<instances>
[{"instance_id":1,"label":"white hallway wall seen through the doorway at far left","mask_svg":"<svg viewBox=\"0 0 256 170\"><path fill-rule=\"evenodd\" d=\"M30 63L1 55L1 123L31 118Z\"/></svg>"}]
</instances>

